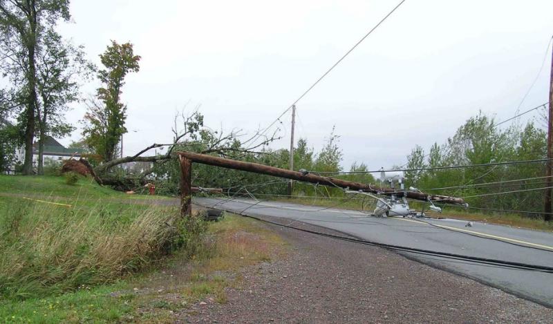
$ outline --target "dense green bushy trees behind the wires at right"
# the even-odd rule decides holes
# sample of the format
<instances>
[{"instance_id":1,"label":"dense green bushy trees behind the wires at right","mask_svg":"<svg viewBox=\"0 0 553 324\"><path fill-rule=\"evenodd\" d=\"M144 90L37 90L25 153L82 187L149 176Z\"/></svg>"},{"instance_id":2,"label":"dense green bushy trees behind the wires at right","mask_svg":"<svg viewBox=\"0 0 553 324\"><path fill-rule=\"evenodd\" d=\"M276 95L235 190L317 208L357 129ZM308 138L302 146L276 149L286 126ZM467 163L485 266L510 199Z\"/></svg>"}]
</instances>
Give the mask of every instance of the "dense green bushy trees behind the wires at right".
<instances>
[{"instance_id":1,"label":"dense green bushy trees behind the wires at right","mask_svg":"<svg viewBox=\"0 0 553 324\"><path fill-rule=\"evenodd\" d=\"M480 113L469 118L446 143L433 144L428 155L422 147L415 146L407 156L407 169L543 159L547 155L546 140L545 131L532 122L523 129L518 126L501 129L495 126L493 118ZM406 181L408 185L431 193L469 196L466 200L473 207L539 212L543 206L543 191L494 193L545 187L545 180L539 178L543 175L545 162L411 171L406 174ZM538 179L508 182L528 178ZM487 184L489 182L494 183ZM460 185L465 187L459 188ZM439 189L443 187L457 188ZM489 193L491 195L482 196Z\"/></svg>"}]
</instances>

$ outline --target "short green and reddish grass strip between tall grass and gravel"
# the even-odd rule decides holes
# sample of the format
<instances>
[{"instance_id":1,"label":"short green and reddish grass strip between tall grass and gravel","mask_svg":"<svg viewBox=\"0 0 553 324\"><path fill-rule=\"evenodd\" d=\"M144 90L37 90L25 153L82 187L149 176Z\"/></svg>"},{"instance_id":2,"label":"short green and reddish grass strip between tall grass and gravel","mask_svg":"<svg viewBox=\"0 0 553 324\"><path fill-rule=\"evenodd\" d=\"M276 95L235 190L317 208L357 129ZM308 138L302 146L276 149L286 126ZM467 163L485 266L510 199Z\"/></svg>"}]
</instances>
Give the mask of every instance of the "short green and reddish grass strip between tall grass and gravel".
<instances>
[{"instance_id":1,"label":"short green and reddish grass strip between tall grass and gravel","mask_svg":"<svg viewBox=\"0 0 553 324\"><path fill-rule=\"evenodd\" d=\"M174 323L198 301L227 303L240 289L241 269L285 254L286 244L261 223L227 215L209 224L203 244L180 250L156 268L110 285L84 286L39 298L0 298L0 323ZM174 274L174 276L168 276Z\"/></svg>"}]
</instances>

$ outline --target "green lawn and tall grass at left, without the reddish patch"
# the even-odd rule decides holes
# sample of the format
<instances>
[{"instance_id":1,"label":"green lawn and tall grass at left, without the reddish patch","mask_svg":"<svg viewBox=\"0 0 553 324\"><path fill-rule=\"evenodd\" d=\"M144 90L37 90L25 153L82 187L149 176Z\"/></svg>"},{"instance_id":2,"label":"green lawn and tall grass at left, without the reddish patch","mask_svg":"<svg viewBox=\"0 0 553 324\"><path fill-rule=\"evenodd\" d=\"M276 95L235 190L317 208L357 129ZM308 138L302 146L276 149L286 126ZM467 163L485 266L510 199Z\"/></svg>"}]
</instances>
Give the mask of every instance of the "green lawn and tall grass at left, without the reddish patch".
<instances>
[{"instance_id":1,"label":"green lawn and tall grass at left, without the reddish patch","mask_svg":"<svg viewBox=\"0 0 553 324\"><path fill-rule=\"evenodd\" d=\"M178 207L148 199L90 178L0 175L0 322L110 323L129 313L109 283L198 244Z\"/></svg>"}]
</instances>

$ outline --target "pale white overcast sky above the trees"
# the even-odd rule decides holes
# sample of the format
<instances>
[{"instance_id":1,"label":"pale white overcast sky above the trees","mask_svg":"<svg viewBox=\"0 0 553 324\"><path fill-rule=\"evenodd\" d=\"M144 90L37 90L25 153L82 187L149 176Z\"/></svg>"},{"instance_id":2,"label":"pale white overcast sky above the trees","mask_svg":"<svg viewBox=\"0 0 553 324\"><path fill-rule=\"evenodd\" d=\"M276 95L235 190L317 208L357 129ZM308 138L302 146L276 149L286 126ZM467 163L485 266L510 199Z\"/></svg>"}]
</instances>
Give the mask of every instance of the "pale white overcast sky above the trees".
<instances>
[{"instance_id":1,"label":"pale white overcast sky above the trees","mask_svg":"<svg viewBox=\"0 0 553 324\"><path fill-rule=\"evenodd\" d=\"M110 39L142 56L122 96L132 154L171 140L187 103L212 128L268 126L397 2L73 0L60 30L98 65ZM444 142L479 110L512 117L540 71L552 12L551 0L407 0L297 104L296 138L319 150L335 125L344 168L378 169ZM547 102L550 55L521 111ZM82 115L77 105L68 120ZM283 124L274 148L289 145L290 115Z\"/></svg>"}]
</instances>

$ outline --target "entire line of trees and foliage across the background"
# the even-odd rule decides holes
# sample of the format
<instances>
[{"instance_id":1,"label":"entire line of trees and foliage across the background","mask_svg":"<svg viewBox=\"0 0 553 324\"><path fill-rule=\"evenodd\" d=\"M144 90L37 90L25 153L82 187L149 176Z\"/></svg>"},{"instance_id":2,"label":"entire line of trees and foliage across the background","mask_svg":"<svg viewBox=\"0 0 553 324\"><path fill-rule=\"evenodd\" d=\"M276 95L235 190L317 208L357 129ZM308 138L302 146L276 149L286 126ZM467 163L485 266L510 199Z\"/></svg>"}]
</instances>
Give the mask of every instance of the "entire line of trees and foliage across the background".
<instances>
[{"instance_id":1,"label":"entire line of trees and foliage across the background","mask_svg":"<svg viewBox=\"0 0 553 324\"><path fill-rule=\"evenodd\" d=\"M245 137L241 131L213 131L203 124L198 109L176 116L169 146L153 143L131 156L120 154L119 144L126 133L127 106L122 101L124 79L140 70L140 56L130 42L111 41L100 54L101 66L86 59L83 46L64 39L56 30L69 21L68 0L0 0L0 170L13 164L15 152L24 148L21 173L32 174L33 144L37 140L37 173L44 173L44 143L48 136L63 137L75 130L65 119L72 104L86 105L82 119L82 140L72 147L85 149L103 184L133 189L147 181L162 184L162 191L178 193L178 166L174 152L179 150L220 155L288 169L290 152L269 149L277 133L263 137L259 132ZM100 86L85 96L82 86L97 80ZM254 140L255 139L255 140ZM493 118L471 117L443 144L435 143L428 152L415 146L407 156L406 169L424 169L464 164L536 160L546 157L543 129L529 122L498 128ZM146 155L152 149L165 153ZM151 153L150 153L151 154ZM326 145L315 152L306 139L294 149L294 168L308 171L339 172L342 152L334 129ZM153 166L140 174L115 168L126 162L148 162ZM366 164L353 164L348 175L357 182L374 182ZM259 185L256 191L285 195L285 183L240 171L194 166L194 184L224 187L227 192ZM422 170L406 173L407 184L430 193L467 197L484 209L541 211L545 163L506 164L462 169ZM269 184L266 184L269 183ZM512 193L503 193L514 191ZM338 189L321 189L297 183L297 196L341 196Z\"/></svg>"}]
</instances>

